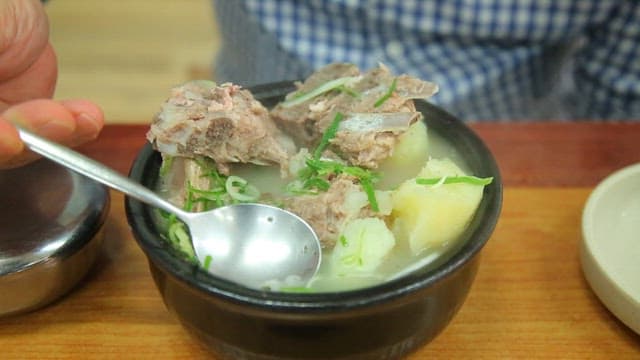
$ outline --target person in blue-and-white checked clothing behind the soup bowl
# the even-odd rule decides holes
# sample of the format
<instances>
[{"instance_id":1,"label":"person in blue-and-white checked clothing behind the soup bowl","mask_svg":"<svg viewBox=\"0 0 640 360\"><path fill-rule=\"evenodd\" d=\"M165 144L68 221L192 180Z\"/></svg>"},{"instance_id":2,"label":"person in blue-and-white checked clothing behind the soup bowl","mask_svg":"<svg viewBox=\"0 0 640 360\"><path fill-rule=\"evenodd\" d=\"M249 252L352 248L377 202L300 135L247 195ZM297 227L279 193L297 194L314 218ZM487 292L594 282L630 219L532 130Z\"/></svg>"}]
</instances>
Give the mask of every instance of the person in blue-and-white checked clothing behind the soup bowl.
<instances>
[{"instance_id":1,"label":"person in blue-and-white checked clothing behind the soup bowl","mask_svg":"<svg viewBox=\"0 0 640 360\"><path fill-rule=\"evenodd\" d=\"M331 62L437 83L464 120L640 119L636 0L215 0L218 81L296 80Z\"/></svg>"}]
</instances>

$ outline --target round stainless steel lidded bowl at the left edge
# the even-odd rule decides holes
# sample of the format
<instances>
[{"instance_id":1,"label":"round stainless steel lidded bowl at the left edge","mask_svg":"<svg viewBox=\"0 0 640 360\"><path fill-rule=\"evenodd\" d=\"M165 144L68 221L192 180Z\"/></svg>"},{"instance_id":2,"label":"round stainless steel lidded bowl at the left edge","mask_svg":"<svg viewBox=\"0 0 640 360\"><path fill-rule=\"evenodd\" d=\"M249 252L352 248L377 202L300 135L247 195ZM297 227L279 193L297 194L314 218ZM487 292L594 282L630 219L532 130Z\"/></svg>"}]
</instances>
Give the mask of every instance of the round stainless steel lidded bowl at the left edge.
<instances>
[{"instance_id":1,"label":"round stainless steel lidded bowl at the left edge","mask_svg":"<svg viewBox=\"0 0 640 360\"><path fill-rule=\"evenodd\" d=\"M46 305L82 279L108 208L105 187L48 160L0 170L0 316Z\"/></svg>"}]
</instances>

